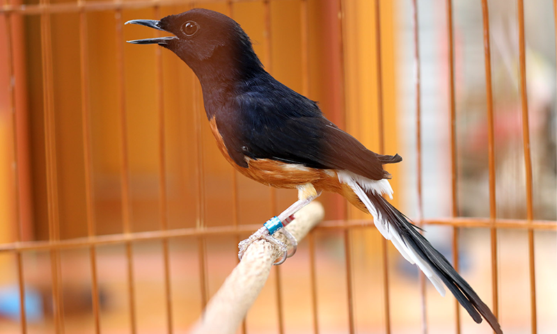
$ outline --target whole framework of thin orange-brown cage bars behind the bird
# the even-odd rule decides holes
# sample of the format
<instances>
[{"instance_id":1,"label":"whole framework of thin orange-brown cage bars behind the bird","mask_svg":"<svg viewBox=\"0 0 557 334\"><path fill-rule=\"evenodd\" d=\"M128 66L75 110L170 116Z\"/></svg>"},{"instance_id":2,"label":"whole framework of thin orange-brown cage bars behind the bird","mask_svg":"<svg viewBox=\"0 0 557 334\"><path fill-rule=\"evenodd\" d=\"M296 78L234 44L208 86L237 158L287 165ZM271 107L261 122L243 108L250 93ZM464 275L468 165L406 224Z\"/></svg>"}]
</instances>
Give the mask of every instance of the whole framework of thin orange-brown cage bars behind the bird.
<instances>
[{"instance_id":1,"label":"whole framework of thin orange-brown cage bars behind the bird","mask_svg":"<svg viewBox=\"0 0 557 334\"><path fill-rule=\"evenodd\" d=\"M211 2L226 2L228 3L228 15L233 14L234 3L246 2L255 0L234 0L234 1L211 1ZM272 0L280 1L280 0ZM417 217L416 223L418 225L426 224L437 224L437 225L448 225L453 228L453 263L455 268L458 269L458 234L462 228L488 228L490 234L491 242L491 266L492 266L492 305L494 314L499 315L499 287L498 287L498 260L497 260L497 233L500 229L520 229L526 230L528 233L528 270L530 278L530 289L531 289L531 333L538 332L538 326L536 321L536 285L535 285L535 257L534 257L534 232L536 230L557 230L556 221L539 221L535 220L533 216L533 180L532 180L532 162L531 162L531 149L530 149L530 134L528 128L528 103L526 95L526 56L525 56L525 41L524 41L524 0L518 0L518 23L519 23L519 86L520 86L520 97L521 97L521 109L522 109L522 134L523 134L523 147L524 147L524 166L526 168L526 208L527 216L526 219L515 220L515 219L501 219L497 217L496 212L496 193L495 193L495 163L494 163L494 110L493 110L493 93L492 93L492 69L491 69L491 50L490 50L490 40L489 40L489 6L487 0L478 0L482 3L483 10L483 30L484 30L484 52L485 52L485 82L486 82L486 94L487 94L487 120L488 120L488 145L489 145L489 218L464 218L460 217L457 212L457 155L456 155L456 116L455 116L455 55L454 48L455 42L453 40L453 6L451 0L446 0L446 17L448 31L448 68L450 69L449 75L446 78L446 84L449 90L449 102L450 102L450 164L452 170L452 217L444 219L425 219L421 216L421 209L418 210L420 216ZM265 4L265 22L266 22L266 38L265 47L270 48L269 40L272 38L270 35L269 26L269 16L270 16L270 6L269 0L262 0ZM379 13L379 0L375 0L375 13ZM422 202L422 177L421 177L421 133L420 133L420 119L421 119L421 72L420 72L420 56L418 51L418 12L417 12L417 0L411 1L413 4L413 29L414 29L414 61L416 65L415 74L415 89L416 92L416 118L418 129L416 133L416 150L417 164L416 169L418 170L418 207L421 207ZM209 273L206 272L205 266L205 248L203 246L204 239L210 238L216 235L228 235L236 236L240 238L240 234L245 234L246 232L251 232L256 230L258 226L256 225L239 225L237 219L237 212L232 213L232 224L224 227L209 227L209 228L184 228L184 229L168 229L168 224L166 223L166 179L165 179L165 133L164 133L164 101L163 101L163 78L162 78L162 56L161 50L157 48L156 53L156 66L157 66L157 101L158 101L158 117L159 117L159 205L160 212L162 213L160 219L160 230L152 232L131 232L130 228L130 182L129 182L129 162L127 161L127 125L126 125L126 106L125 106L125 78L124 78L124 58L123 58L123 20L122 11L129 8L153 8L155 13L159 13L159 8L163 6L173 6L173 5L185 5L191 3L191 0L135 0L135 1L85 1L77 0L77 2L69 3L56 3L51 4L49 0L40 0L36 5L15 5L10 3L9 0L5 0L3 5L0 6L0 19L5 20L6 27L8 31L8 56L10 57L8 61L8 71L9 76L14 75L14 62L13 62L13 43L11 41L11 31L13 29L12 19L14 15L39 15L40 16L40 42L42 45L41 55L42 55L42 83L44 87L43 99L45 102L45 141L46 141L46 159L47 159L47 198L49 203L49 216L48 216L48 226L49 226L49 239L47 241L22 241L21 226L19 225L19 217L16 217L16 223L18 234L17 241L9 244L0 244L0 252L12 253L17 259L17 273L18 273L18 283L19 283L19 300L20 312L21 312L21 328L22 333L27 333L27 320L25 313L25 299L26 294L24 289L24 275L23 275L23 260L22 254L31 250L43 250L48 251L51 257L51 273L52 276L52 295L54 296L54 328L56 333L63 333L63 312L61 310L61 271L60 271L60 260L59 252L65 248L88 248L89 260L91 264L91 282L92 282L92 301L93 301L93 315L95 323L95 333L101 333L100 331L100 304L98 296L97 287L97 256L95 246L102 244L123 244L125 245L127 253L127 275L128 275L128 287L129 291L129 304L130 304L130 326L132 333L136 333L136 315L134 314L134 263L132 259L132 244L136 241L144 240L161 240L163 245L164 254L164 275L165 275L165 292L166 292L166 308L167 308L167 328L168 333L173 332L173 319L172 319L172 304L169 296L171 295L171 283L169 277L169 260L168 260L168 240L175 237L190 237L198 239L199 242L199 263L201 266L201 294L203 305L207 303L207 286L206 286L206 276ZM197 4L205 3L205 1L197 1ZM308 92L308 0L299 0L299 6L301 6L301 40L302 40L302 67L303 67L303 91L301 93L306 94ZM338 8L343 10L343 0L338 0ZM554 8L557 8L557 0L554 0ZM88 106L88 45L87 45L87 19L86 13L95 11L113 11L116 15L114 21L116 36L118 40L116 41L117 47L117 58L118 58L118 94L120 95L120 121L121 121L121 154L123 157L122 168L121 168L121 180L122 180L122 204L123 204L123 226L124 232L122 234L113 235L96 235L95 234L95 212L93 209L93 198L92 198L92 177L91 177L91 124L89 124L89 106ZM53 106L53 79L52 79L52 43L50 38L50 15L54 13L79 13L79 34L80 44L79 44L79 54L81 61L81 113L82 113L82 129L83 129L83 141L84 141L84 159L85 159L85 184L86 184L86 216L87 216L87 237L77 238L77 239L60 239L60 230L58 225L58 212L56 205L58 203L58 193L56 186L56 138L54 135L54 106ZM343 15L339 15L340 25L339 29L343 27ZM556 9L557 17L557 9ZM377 33L377 50L381 49L381 39L380 39L380 27L379 20L376 20L377 26L375 32ZM557 30L557 28L556 28ZM267 52L269 54L269 52ZM380 52L377 54L377 71L378 71L378 96L379 100L377 104L379 105L379 152L383 150L383 110L382 110L382 81L381 77L381 57ZM17 110L15 108L15 84L13 81L8 87L10 90L10 107L11 107L11 117L13 132L15 133L15 114ZM194 102L195 104L195 102ZM199 114L196 113L196 137L201 138L201 119ZM17 140L15 136L14 140ZM14 149L15 150L15 149ZM203 164L201 160L201 150L197 152L198 161L198 178L203 180ZM15 150L15 164L18 163L17 150ZM14 175L17 184L17 170ZM235 176L233 177L234 182ZM234 188L237 189L234 183ZM19 198L17 187L15 188L15 198ZM201 221L203 221L203 186L201 182L198 183L198 212L200 214ZM237 210L237 191L233 195L234 207ZM16 205L19 205L16 203ZM16 210L19 212L19 209ZM366 221L369 223L369 221ZM370 225L370 224L368 224ZM371 224L372 226L372 224ZM352 310L352 268L351 268L351 255L350 255L350 230L355 230L363 228L362 221L325 221L317 227L317 230L340 230L344 232L345 239L345 252L346 256L346 276L347 276L347 298L349 305L349 324L350 333L354 333L354 310ZM311 249L310 266L311 266L311 282L312 285L312 301L313 301L313 326L315 333L318 333L318 319L317 319L317 296L315 292L315 245L312 235L309 237L309 245ZM385 331L386 333L391 333L391 321L389 314L389 269L386 265L386 241L383 241L383 270L384 270L384 308L385 308ZM278 295L280 296L281 283L280 280L276 280L278 289ZM425 299L425 287L424 280L421 280L421 294ZM278 299L278 319L279 319L279 332L283 333L283 319L282 319L282 306L280 297ZM457 301L455 301L456 310L456 332L460 333L460 307ZM425 312L425 310L423 310ZM425 319L425 316L424 316ZM245 330L245 328L244 328Z\"/></svg>"}]
</instances>

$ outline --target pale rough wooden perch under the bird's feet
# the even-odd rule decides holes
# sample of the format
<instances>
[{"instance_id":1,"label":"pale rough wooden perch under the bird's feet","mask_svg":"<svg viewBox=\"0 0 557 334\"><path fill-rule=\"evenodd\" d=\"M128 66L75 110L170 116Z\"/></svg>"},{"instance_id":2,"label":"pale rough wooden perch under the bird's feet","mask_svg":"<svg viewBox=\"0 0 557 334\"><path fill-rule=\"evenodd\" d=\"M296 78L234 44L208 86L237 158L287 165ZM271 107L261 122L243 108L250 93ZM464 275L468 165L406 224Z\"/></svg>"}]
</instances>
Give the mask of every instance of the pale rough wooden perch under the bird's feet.
<instances>
[{"instance_id":1,"label":"pale rough wooden perch under the bird's feet","mask_svg":"<svg viewBox=\"0 0 557 334\"><path fill-rule=\"evenodd\" d=\"M317 223L322 221L323 216L323 206L319 202L312 202L297 212L295 220L285 228L301 241ZM281 233L276 233L274 236L287 242ZM219 291L207 303L203 315L190 333L236 333L236 329L269 278L273 263L281 256L282 253L278 248L268 241L253 242L246 250L242 261L237 264Z\"/></svg>"}]
</instances>

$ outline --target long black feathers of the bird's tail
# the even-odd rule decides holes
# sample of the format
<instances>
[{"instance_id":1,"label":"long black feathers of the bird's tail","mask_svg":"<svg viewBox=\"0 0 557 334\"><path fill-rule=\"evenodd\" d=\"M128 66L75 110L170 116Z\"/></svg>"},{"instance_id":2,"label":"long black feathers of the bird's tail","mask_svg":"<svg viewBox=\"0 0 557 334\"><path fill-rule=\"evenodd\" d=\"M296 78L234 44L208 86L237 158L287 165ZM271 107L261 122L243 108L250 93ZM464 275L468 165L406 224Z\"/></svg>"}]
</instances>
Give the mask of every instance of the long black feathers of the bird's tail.
<instances>
[{"instance_id":1,"label":"long black feathers of the bird's tail","mask_svg":"<svg viewBox=\"0 0 557 334\"><path fill-rule=\"evenodd\" d=\"M402 237L406 245L430 265L434 273L441 278L472 319L479 324L482 322L483 316L489 325L492 326L495 333L502 334L501 325L499 325L493 312L489 310L489 307L485 305L466 280L455 271L448 260L418 232L416 226L410 223L404 214L393 207L382 196L371 192L367 194L373 205L377 208L377 212L382 217L382 220L388 221L390 227L395 229L395 232Z\"/></svg>"}]
</instances>

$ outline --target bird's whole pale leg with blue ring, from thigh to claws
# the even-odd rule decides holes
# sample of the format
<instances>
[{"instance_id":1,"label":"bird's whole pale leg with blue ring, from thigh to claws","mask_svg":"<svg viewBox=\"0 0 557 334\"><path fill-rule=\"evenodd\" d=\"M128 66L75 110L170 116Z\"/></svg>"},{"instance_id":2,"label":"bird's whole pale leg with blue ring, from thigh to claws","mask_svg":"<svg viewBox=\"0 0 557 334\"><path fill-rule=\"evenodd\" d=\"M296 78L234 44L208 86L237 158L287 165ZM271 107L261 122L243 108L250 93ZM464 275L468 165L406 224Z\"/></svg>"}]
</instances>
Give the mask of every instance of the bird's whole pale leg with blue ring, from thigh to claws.
<instances>
[{"instance_id":1,"label":"bird's whole pale leg with blue ring, from thigh to claws","mask_svg":"<svg viewBox=\"0 0 557 334\"><path fill-rule=\"evenodd\" d=\"M283 253L283 257L281 258L281 260L275 262L274 265L282 264L283 262L285 262L287 257L291 257L296 253L298 241L292 234L290 234L290 232L288 232L288 230L282 228L285 225L288 225L288 223L290 223L292 220L294 220L294 214L298 212L299 209L305 207L306 205L311 203L312 200L315 200L315 198L320 195L321 193L317 193L311 183L298 186L298 200L294 204L290 205L288 209L285 209L278 216L274 216L273 218L269 219L262 228L251 234L248 239L240 241L240 244L238 244L238 248L240 248L240 251L238 252L238 258L242 260L242 256L246 252L246 249L253 243L253 241L256 241L258 239L265 239L270 243L278 246L278 248ZM273 234L278 230L280 230L286 237L286 239L290 241L290 244L292 244L292 253L288 254L288 247L282 241L273 237Z\"/></svg>"}]
</instances>

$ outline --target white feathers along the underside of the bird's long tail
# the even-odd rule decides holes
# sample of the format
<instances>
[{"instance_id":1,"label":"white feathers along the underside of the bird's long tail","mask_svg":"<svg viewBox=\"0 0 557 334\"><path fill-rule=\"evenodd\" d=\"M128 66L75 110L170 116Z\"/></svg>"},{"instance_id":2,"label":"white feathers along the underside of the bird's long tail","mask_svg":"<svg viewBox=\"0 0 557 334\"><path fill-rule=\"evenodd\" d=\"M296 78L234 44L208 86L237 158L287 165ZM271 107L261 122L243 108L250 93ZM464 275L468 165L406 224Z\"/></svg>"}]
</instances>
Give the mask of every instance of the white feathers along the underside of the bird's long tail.
<instances>
[{"instance_id":1,"label":"white feathers along the underside of the bird's long tail","mask_svg":"<svg viewBox=\"0 0 557 334\"><path fill-rule=\"evenodd\" d=\"M377 227L377 230L379 230L383 237L387 240L391 240L395 248L408 262L410 262L411 264L417 264L418 268L420 268L425 276L429 278L439 294L441 294L441 296L445 296L445 287L441 282L439 276L437 276L437 274L432 271L429 264L423 261L422 258L418 256L416 252L414 252L414 250L407 246L405 241L402 239L402 237L400 237L400 235L394 228L390 228L391 223L389 223L389 221L385 221L383 217L379 215L377 209L363 190L366 189L366 191L373 191L374 193L378 193L379 195L386 193L391 198L393 198L393 189L391 189L389 180L369 180L366 177L361 177L345 170L338 171L338 180L344 184L347 184L347 186L350 186L354 193L356 193L356 196L360 198L360 200L363 202L363 205L366 206L366 209L368 209L370 214L373 216L375 227ZM360 181L363 182L363 184L361 184Z\"/></svg>"}]
</instances>

